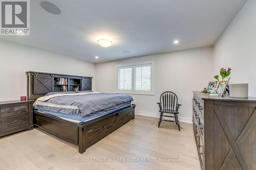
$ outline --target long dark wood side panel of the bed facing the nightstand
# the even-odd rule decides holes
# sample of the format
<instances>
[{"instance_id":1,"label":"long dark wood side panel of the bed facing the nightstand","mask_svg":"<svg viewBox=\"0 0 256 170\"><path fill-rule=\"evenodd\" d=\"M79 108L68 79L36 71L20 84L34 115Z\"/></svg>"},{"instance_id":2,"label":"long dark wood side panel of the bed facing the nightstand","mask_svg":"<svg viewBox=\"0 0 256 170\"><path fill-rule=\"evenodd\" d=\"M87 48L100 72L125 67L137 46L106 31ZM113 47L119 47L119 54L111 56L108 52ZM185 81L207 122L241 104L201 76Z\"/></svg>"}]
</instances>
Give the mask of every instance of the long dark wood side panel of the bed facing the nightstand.
<instances>
[{"instance_id":1,"label":"long dark wood side panel of the bed facing the nightstand","mask_svg":"<svg viewBox=\"0 0 256 170\"><path fill-rule=\"evenodd\" d=\"M36 113L34 114L34 125L58 137L78 143L78 128L72 123L63 122L58 118Z\"/></svg>"}]
</instances>

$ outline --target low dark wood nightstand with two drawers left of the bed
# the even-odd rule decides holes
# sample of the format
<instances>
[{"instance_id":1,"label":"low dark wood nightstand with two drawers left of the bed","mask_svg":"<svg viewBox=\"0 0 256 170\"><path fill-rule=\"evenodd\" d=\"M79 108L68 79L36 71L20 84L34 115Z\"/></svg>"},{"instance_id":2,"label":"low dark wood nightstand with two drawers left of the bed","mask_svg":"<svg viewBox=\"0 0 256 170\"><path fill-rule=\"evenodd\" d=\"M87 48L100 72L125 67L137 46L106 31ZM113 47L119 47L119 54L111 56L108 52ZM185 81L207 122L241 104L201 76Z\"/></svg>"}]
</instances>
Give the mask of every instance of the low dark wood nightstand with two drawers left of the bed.
<instances>
[{"instance_id":1,"label":"low dark wood nightstand with two drawers left of the bed","mask_svg":"<svg viewBox=\"0 0 256 170\"><path fill-rule=\"evenodd\" d=\"M0 102L0 137L33 129L33 101Z\"/></svg>"}]
</instances>

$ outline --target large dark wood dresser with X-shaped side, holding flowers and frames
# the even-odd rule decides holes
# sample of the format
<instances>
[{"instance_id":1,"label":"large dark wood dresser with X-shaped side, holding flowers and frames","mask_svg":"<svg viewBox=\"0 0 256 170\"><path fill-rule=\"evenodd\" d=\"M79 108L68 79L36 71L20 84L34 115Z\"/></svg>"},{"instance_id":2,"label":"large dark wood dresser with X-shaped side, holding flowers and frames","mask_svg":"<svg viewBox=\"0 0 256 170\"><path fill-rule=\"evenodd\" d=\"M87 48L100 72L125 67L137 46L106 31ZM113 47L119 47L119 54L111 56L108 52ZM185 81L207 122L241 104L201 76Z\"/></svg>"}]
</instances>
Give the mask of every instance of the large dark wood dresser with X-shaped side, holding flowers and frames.
<instances>
[{"instance_id":1,"label":"large dark wood dresser with X-shaped side, holding flowers and frames","mask_svg":"<svg viewBox=\"0 0 256 170\"><path fill-rule=\"evenodd\" d=\"M256 169L256 98L193 92L193 128L202 169Z\"/></svg>"}]
</instances>

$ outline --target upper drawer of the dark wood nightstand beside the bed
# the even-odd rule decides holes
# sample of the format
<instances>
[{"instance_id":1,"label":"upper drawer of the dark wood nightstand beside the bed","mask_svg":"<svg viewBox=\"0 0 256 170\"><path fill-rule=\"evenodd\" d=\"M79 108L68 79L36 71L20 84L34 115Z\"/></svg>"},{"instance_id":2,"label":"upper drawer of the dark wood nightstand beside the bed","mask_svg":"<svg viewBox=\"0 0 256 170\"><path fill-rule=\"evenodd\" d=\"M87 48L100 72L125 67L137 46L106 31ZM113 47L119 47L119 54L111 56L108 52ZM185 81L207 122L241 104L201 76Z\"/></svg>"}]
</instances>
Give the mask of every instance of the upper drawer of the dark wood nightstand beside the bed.
<instances>
[{"instance_id":1,"label":"upper drawer of the dark wood nightstand beside the bed","mask_svg":"<svg viewBox=\"0 0 256 170\"><path fill-rule=\"evenodd\" d=\"M1 118L19 116L28 113L28 104L9 105L1 107Z\"/></svg>"}]
</instances>

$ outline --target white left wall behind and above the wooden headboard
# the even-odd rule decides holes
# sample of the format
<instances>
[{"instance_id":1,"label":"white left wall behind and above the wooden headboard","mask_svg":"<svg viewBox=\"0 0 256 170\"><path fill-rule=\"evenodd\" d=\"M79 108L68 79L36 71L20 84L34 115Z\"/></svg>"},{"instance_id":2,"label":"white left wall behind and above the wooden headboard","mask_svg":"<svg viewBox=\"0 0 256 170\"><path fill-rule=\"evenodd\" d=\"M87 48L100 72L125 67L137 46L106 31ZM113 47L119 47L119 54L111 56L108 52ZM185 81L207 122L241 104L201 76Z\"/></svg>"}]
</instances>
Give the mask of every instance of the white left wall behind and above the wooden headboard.
<instances>
[{"instance_id":1,"label":"white left wall behind and above the wooden headboard","mask_svg":"<svg viewBox=\"0 0 256 170\"><path fill-rule=\"evenodd\" d=\"M95 65L0 40L0 101L19 100L27 95L26 71L94 77Z\"/></svg>"}]
</instances>

